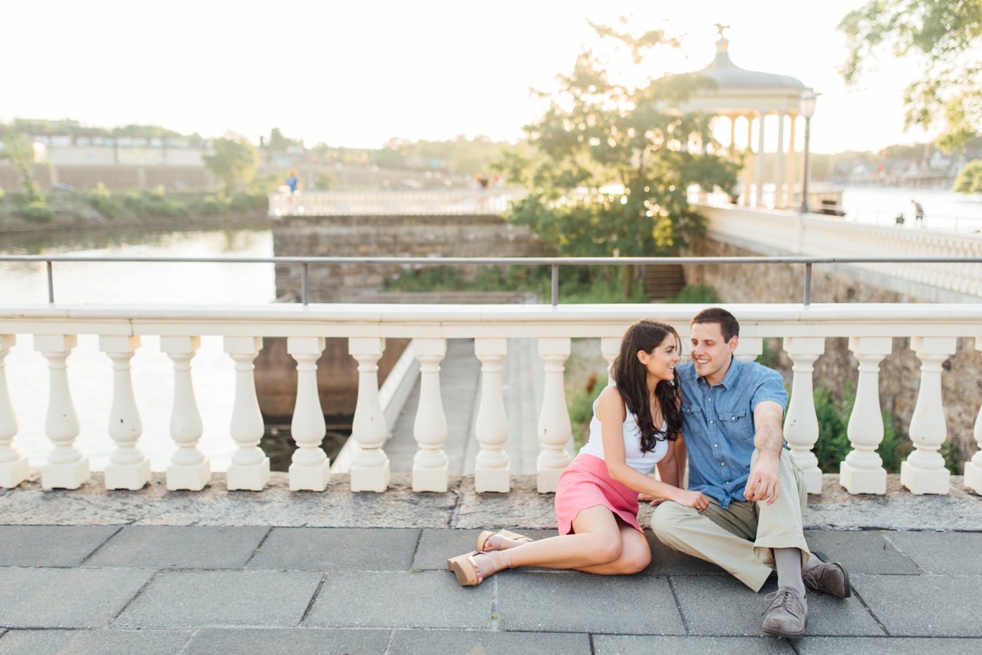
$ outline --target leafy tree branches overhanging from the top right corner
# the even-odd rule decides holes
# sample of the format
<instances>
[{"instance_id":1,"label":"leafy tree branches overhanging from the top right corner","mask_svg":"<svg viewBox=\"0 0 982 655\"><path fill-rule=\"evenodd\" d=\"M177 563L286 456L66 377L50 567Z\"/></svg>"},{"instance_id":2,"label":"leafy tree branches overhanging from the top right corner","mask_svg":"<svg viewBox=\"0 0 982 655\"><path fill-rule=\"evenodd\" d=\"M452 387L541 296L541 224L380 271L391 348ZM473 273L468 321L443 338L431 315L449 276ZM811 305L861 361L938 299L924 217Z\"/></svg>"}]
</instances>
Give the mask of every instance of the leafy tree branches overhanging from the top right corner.
<instances>
[{"instance_id":1,"label":"leafy tree branches overhanging from the top right corner","mask_svg":"<svg viewBox=\"0 0 982 655\"><path fill-rule=\"evenodd\" d=\"M846 14L848 56L841 69L854 84L888 50L917 61L904 92L904 126L945 124L939 144L960 148L982 119L982 0L871 0Z\"/></svg>"}]
</instances>

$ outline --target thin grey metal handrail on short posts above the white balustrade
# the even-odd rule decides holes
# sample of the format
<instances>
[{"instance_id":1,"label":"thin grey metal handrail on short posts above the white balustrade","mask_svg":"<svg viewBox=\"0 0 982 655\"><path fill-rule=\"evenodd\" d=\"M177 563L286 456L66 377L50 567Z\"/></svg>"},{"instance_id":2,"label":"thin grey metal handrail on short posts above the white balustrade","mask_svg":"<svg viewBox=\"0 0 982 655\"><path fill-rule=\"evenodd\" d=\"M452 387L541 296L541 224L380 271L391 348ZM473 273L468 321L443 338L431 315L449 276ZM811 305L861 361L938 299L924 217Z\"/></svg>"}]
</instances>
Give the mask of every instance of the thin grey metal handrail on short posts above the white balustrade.
<instances>
[{"instance_id":1,"label":"thin grey metal handrail on short posts above the white balustrade","mask_svg":"<svg viewBox=\"0 0 982 655\"><path fill-rule=\"evenodd\" d=\"M803 302L811 302L811 272L814 264L951 263L979 264L982 257L85 257L77 255L0 254L0 261L43 261L48 276L48 302L54 300L54 270L58 262L143 262L143 263L237 263L300 264L303 304L309 302L307 269L310 264L504 264L552 266L552 304L559 304L560 266L618 266L624 264L801 264L804 266Z\"/></svg>"}]
</instances>

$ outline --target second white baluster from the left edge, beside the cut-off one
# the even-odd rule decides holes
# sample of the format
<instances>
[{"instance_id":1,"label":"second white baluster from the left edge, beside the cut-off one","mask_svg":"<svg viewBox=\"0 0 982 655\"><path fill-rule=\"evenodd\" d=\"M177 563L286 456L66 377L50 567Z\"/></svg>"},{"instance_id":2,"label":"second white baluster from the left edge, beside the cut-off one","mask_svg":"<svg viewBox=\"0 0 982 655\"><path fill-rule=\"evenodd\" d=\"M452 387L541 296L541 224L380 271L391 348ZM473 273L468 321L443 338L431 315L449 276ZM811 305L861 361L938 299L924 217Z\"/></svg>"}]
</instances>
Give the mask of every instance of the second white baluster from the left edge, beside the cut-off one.
<instances>
[{"instance_id":1,"label":"second white baluster from the left edge, beside the cut-off one","mask_svg":"<svg viewBox=\"0 0 982 655\"><path fill-rule=\"evenodd\" d=\"M41 466L43 489L78 489L88 479L88 458L75 447L79 416L68 386L66 359L77 344L75 335L34 335L34 350L48 360L50 391L44 433L54 445L48 463Z\"/></svg>"}]
</instances>

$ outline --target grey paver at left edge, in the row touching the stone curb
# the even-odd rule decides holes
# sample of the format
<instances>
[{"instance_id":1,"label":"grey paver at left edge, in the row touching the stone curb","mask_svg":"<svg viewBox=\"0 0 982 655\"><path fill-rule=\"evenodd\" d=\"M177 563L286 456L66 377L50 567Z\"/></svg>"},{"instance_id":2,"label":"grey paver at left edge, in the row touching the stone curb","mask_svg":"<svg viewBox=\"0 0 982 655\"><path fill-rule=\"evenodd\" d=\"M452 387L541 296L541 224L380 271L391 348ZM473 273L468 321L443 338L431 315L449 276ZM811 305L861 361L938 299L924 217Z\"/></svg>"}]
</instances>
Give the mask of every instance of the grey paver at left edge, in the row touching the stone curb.
<instances>
[{"instance_id":1,"label":"grey paver at left edge, in the row touching the stone curb","mask_svg":"<svg viewBox=\"0 0 982 655\"><path fill-rule=\"evenodd\" d=\"M77 567L119 525L0 525L0 567Z\"/></svg>"}]
</instances>

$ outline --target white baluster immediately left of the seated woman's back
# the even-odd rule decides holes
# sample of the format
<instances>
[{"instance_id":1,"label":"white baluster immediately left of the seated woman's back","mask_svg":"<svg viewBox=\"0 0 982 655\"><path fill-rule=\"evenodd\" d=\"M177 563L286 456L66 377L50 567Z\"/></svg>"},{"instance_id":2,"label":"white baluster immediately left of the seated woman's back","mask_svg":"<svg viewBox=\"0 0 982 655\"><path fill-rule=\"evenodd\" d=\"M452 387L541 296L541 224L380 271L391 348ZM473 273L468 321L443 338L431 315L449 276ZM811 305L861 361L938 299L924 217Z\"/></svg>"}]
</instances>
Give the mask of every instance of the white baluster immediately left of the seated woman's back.
<instances>
[{"instance_id":1,"label":"white baluster immediately left of the seated woman's back","mask_svg":"<svg viewBox=\"0 0 982 655\"><path fill-rule=\"evenodd\" d=\"M569 337L540 337L539 356L545 362L546 381L542 392L538 436L542 451L536 461L537 487L540 494L552 493L559 486L559 476L570 465L566 447L573 438L570 411L566 406L563 365L570 356Z\"/></svg>"}]
</instances>

